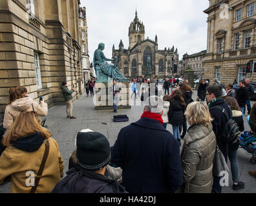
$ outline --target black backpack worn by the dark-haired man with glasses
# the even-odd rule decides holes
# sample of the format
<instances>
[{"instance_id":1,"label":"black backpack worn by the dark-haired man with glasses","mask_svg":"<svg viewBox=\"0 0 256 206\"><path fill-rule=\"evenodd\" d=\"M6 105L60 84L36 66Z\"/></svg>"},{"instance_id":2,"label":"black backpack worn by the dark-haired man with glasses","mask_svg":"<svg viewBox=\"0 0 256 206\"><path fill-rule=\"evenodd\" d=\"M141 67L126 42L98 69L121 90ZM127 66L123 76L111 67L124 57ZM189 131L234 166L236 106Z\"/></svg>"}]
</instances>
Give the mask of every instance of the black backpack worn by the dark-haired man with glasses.
<instances>
[{"instance_id":1,"label":"black backpack worn by the dark-haired man with glasses","mask_svg":"<svg viewBox=\"0 0 256 206\"><path fill-rule=\"evenodd\" d=\"M224 126L224 129L222 131L222 136L221 136L222 142L228 143L228 144L235 144L235 143L239 142L240 131L239 131L239 126L237 125L237 122L235 122L235 120L233 120L232 117L229 117L228 113L221 106L215 106L214 108L221 111L227 120L227 122ZM230 108L229 108L229 110L231 113Z\"/></svg>"}]
</instances>

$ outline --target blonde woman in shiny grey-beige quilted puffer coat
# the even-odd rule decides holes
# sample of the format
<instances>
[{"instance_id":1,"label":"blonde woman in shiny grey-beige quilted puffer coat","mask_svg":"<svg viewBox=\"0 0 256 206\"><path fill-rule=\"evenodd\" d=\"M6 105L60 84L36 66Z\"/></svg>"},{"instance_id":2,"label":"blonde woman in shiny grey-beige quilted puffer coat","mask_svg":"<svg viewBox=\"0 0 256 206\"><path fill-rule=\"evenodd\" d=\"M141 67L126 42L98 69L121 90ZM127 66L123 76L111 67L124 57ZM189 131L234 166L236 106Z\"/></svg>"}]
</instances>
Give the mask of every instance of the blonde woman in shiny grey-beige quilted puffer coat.
<instances>
[{"instance_id":1,"label":"blonde woman in shiny grey-beige quilted puffer coat","mask_svg":"<svg viewBox=\"0 0 256 206\"><path fill-rule=\"evenodd\" d=\"M192 102L185 112L190 125L181 153L185 193L210 193L216 138L209 108L204 102Z\"/></svg>"}]
</instances>

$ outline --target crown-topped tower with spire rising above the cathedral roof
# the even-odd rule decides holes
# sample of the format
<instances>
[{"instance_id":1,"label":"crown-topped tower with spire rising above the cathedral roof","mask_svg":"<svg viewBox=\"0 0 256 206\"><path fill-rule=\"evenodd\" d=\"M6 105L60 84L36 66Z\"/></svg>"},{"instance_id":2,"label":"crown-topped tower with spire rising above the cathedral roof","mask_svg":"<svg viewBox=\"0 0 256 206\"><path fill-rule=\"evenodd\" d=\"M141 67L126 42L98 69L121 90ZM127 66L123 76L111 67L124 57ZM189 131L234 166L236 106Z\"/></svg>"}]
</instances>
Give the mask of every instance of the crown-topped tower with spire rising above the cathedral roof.
<instances>
[{"instance_id":1,"label":"crown-topped tower with spire rising above the cathedral roof","mask_svg":"<svg viewBox=\"0 0 256 206\"><path fill-rule=\"evenodd\" d=\"M143 41L145 39L145 26L143 22L141 23L137 16L137 10L135 12L135 18L129 27L129 48L133 48L133 46L138 41Z\"/></svg>"}]
</instances>

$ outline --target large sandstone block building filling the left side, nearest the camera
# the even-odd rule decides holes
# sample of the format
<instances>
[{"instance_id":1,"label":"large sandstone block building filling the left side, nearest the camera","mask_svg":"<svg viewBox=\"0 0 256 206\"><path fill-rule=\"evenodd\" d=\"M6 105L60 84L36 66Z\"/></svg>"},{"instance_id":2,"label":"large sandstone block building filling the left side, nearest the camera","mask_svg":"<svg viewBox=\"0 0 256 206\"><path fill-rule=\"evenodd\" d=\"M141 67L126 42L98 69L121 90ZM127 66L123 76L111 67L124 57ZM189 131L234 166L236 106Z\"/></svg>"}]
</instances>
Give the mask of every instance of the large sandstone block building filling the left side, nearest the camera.
<instances>
[{"instance_id":1,"label":"large sandstone block building filling the left side, nearest the camera","mask_svg":"<svg viewBox=\"0 0 256 206\"><path fill-rule=\"evenodd\" d=\"M80 0L0 1L0 120L8 91L26 86L28 95L48 106L63 104L62 81L84 91L78 29Z\"/></svg>"}]
</instances>

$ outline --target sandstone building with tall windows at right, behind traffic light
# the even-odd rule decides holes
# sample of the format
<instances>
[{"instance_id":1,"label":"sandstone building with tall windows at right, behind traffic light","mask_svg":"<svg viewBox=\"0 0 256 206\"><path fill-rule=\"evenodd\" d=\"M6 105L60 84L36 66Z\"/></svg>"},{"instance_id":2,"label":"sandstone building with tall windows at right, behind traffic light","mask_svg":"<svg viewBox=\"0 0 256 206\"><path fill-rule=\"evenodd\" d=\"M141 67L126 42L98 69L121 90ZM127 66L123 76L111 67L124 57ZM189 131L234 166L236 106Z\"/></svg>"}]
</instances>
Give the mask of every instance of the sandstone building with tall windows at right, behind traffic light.
<instances>
[{"instance_id":1,"label":"sandstone building with tall windows at right, behind traffic light","mask_svg":"<svg viewBox=\"0 0 256 206\"><path fill-rule=\"evenodd\" d=\"M208 14L206 79L217 77L226 86L234 79L250 77L245 67L251 59L256 61L255 6L253 0L209 1L204 10ZM256 81L255 72L251 80Z\"/></svg>"}]
</instances>

